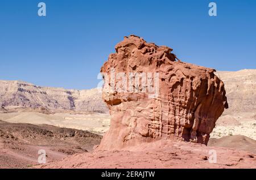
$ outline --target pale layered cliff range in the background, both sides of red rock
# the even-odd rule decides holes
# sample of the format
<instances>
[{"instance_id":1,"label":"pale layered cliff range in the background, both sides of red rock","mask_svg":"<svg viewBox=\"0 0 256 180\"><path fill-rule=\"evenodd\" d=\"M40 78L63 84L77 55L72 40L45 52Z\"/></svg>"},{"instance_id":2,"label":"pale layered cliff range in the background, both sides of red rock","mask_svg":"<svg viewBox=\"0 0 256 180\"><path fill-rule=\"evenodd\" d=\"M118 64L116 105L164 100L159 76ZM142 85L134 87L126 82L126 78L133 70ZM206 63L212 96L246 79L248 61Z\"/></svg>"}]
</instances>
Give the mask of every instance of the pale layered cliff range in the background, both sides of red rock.
<instances>
[{"instance_id":1,"label":"pale layered cliff range in the background, both sides of red rock","mask_svg":"<svg viewBox=\"0 0 256 180\"><path fill-rule=\"evenodd\" d=\"M225 110L224 114L237 114L242 115L243 113L255 113L256 112L256 70L240 70L240 71L217 71L214 72L225 84L226 96L228 97L229 109ZM26 85L22 85L26 84ZM21 86L24 90L23 93L18 91L18 86ZM36 92L34 97L27 97L29 93L29 88L33 88L33 91ZM52 94L52 99L56 100L49 105L42 103L49 97L40 96L37 94L42 91L42 89L49 89L43 91ZM54 91L53 91L54 89ZM74 102L70 102L68 99L67 92L73 92L75 95L73 97ZM54 93L53 93L54 92ZM80 93L78 93L80 92ZM44 92L44 94L46 94ZM63 101L59 98L60 95L64 96ZM26 98L22 98L22 96ZM38 96L38 97L37 97ZM28 100L26 100L28 99ZM71 98L72 99L72 98ZM51 100L47 100L51 101ZM75 104L75 108L71 106ZM96 89L88 90L68 90L63 88L49 88L49 87L40 87L33 85L31 83L18 82L18 81L7 81L0 80L0 108L1 105L4 105L6 108L11 106L18 106L20 108L46 108L49 110L58 110L58 109L75 109L75 110L84 110L84 111L94 111L94 112L104 112L108 113L109 110L106 108L104 101L102 101L101 92L97 92ZM6 112L5 109L0 109L0 112ZM40 110L42 112L42 110ZM256 118L256 116L254 117Z\"/></svg>"}]
</instances>

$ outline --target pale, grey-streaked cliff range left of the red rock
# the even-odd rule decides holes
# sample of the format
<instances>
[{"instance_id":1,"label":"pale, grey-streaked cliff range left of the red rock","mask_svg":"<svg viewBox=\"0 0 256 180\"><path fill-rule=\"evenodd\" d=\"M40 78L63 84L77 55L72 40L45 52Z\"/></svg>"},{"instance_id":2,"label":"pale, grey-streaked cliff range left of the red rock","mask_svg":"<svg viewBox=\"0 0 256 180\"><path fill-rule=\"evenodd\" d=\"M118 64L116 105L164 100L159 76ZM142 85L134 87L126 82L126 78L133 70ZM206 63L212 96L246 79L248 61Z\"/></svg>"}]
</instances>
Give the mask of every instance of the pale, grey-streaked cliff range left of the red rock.
<instances>
[{"instance_id":1,"label":"pale, grey-streaked cliff range left of the red rock","mask_svg":"<svg viewBox=\"0 0 256 180\"><path fill-rule=\"evenodd\" d=\"M108 112L97 89L77 91L6 80L0 80L0 106Z\"/></svg>"}]
</instances>

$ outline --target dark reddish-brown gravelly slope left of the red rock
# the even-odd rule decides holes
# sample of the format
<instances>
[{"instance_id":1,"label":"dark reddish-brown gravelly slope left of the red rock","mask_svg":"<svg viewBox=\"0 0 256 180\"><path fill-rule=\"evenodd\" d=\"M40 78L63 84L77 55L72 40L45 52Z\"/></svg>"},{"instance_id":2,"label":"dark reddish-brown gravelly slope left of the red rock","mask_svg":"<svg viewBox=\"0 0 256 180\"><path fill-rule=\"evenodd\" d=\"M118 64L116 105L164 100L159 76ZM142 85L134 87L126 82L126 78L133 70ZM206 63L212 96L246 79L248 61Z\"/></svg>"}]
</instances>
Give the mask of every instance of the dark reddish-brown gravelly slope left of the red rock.
<instances>
[{"instance_id":1,"label":"dark reddish-brown gravelly slope left of the red rock","mask_svg":"<svg viewBox=\"0 0 256 180\"><path fill-rule=\"evenodd\" d=\"M46 151L48 163L90 152L101 138L101 135L72 128L0 121L0 168L38 165L40 149Z\"/></svg>"}]
</instances>

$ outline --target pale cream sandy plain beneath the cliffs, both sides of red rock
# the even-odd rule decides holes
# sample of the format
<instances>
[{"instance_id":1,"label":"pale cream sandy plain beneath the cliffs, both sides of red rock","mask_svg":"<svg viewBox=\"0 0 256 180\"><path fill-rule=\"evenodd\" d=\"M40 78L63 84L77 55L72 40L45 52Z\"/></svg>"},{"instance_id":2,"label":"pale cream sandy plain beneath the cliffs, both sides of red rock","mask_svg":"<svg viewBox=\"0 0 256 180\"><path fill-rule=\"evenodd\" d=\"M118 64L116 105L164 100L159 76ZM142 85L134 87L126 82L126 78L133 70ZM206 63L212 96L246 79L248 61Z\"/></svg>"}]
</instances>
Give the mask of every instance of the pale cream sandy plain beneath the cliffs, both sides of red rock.
<instances>
[{"instance_id":1,"label":"pale cream sandy plain beneath the cliffs, both sides of red rock","mask_svg":"<svg viewBox=\"0 0 256 180\"><path fill-rule=\"evenodd\" d=\"M52 125L56 127L75 128L103 135L110 127L110 115L94 112L58 112L44 114L39 112L0 113L0 120L10 123L30 123L33 125ZM211 138L243 135L256 140L256 118L254 113L241 115L222 115Z\"/></svg>"}]
</instances>

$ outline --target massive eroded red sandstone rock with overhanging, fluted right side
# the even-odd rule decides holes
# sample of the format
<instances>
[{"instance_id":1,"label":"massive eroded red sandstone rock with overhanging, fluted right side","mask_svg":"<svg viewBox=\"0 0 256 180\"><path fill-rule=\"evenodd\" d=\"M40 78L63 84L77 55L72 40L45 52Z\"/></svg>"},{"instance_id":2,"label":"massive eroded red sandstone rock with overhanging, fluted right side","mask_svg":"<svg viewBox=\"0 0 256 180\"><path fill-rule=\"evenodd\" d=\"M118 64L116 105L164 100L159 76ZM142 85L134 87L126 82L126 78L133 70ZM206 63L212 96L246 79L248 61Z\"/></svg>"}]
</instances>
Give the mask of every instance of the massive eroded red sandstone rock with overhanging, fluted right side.
<instances>
[{"instance_id":1,"label":"massive eroded red sandstone rock with overhanging, fluted right side","mask_svg":"<svg viewBox=\"0 0 256 180\"><path fill-rule=\"evenodd\" d=\"M171 48L134 35L125 37L115 50L101 68L102 96L112 119L98 149L126 149L160 139L207 144L215 122L228 108L224 83L215 70L181 62ZM125 85L113 72L125 73ZM139 85L133 82L129 73L135 72L147 74L146 85L143 78ZM158 74L154 83L148 78L151 73ZM133 91L126 87L129 81ZM158 96L151 96L148 88L153 86Z\"/></svg>"}]
</instances>

